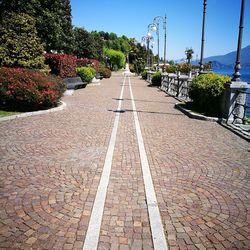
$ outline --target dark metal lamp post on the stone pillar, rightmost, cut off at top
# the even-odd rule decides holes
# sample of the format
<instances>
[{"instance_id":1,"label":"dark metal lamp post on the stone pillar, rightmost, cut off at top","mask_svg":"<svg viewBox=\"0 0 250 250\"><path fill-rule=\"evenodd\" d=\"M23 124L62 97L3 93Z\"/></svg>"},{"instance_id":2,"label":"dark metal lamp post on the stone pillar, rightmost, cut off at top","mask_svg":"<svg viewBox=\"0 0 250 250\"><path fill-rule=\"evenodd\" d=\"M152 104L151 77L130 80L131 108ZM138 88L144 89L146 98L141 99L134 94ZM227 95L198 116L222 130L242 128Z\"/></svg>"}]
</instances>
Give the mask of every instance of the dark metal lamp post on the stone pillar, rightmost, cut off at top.
<instances>
[{"instance_id":1,"label":"dark metal lamp post on the stone pillar, rightmost, cut off at top","mask_svg":"<svg viewBox=\"0 0 250 250\"><path fill-rule=\"evenodd\" d=\"M240 26L239 26L239 35L238 35L237 55L236 55L236 62L235 62L235 67L234 67L234 74L232 78L232 81L236 81L236 82L240 81L240 52L241 52L241 45L242 45L244 12L245 12L245 0L242 0L241 11L240 11Z\"/></svg>"}]
</instances>

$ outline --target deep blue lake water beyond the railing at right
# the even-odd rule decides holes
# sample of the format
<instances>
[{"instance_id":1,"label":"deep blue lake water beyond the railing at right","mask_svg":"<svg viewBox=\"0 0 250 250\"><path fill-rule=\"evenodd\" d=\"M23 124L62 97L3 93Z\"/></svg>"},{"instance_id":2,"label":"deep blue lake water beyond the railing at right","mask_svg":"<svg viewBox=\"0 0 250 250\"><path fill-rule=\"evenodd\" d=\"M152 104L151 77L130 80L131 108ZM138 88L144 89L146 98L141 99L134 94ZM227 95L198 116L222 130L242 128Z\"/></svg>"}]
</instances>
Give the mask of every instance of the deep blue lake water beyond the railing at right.
<instances>
[{"instance_id":1,"label":"deep blue lake water beyond the railing at right","mask_svg":"<svg viewBox=\"0 0 250 250\"><path fill-rule=\"evenodd\" d=\"M234 73L234 69L233 68L228 68L228 69L213 69L213 71L215 73L218 74L223 74L223 75L228 75L230 77L232 77L233 73ZM240 79L243 82L248 82L250 83L250 69L241 69L240 70ZM250 93L250 89L247 90L248 93ZM250 117L250 94L247 95L247 111L246 111L246 117Z\"/></svg>"}]
</instances>

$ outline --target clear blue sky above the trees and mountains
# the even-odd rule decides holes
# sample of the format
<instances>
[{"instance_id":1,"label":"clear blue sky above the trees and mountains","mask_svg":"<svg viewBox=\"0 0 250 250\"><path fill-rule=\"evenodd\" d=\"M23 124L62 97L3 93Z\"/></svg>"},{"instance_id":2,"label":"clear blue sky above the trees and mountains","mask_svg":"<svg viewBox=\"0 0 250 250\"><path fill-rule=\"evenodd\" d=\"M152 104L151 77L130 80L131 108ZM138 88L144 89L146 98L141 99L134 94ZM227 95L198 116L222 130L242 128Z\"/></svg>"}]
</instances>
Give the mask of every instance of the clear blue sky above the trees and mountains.
<instances>
[{"instance_id":1,"label":"clear blue sky above the trees and mountains","mask_svg":"<svg viewBox=\"0 0 250 250\"><path fill-rule=\"evenodd\" d=\"M138 41L147 34L154 17L166 14L167 59L184 58L187 47L193 48L194 58L200 56L203 0L71 0L71 7L74 26ZM241 0L207 0L205 57L236 50L240 7ZM250 0L246 0L243 47L250 44L249 13ZM163 55L163 37L160 42ZM155 43L155 53L156 48Z\"/></svg>"}]
</instances>

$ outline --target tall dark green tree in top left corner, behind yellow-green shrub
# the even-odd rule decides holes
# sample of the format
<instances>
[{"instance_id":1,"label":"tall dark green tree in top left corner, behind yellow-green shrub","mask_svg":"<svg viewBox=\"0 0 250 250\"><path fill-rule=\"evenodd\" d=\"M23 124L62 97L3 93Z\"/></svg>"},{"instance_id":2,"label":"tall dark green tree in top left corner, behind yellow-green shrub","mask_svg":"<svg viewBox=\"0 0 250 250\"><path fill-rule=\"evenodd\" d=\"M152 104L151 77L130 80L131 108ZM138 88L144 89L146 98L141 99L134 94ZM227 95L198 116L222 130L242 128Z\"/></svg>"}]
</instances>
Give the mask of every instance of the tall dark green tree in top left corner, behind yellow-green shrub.
<instances>
[{"instance_id":1,"label":"tall dark green tree in top left corner, behind yellow-green shrub","mask_svg":"<svg viewBox=\"0 0 250 250\"><path fill-rule=\"evenodd\" d=\"M0 19L9 12L26 13L36 19L38 36L47 52L70 53L73 47L69 0L2 0ZM0 20L0 21L1 21Z\"/></svg>"}]
</instances>

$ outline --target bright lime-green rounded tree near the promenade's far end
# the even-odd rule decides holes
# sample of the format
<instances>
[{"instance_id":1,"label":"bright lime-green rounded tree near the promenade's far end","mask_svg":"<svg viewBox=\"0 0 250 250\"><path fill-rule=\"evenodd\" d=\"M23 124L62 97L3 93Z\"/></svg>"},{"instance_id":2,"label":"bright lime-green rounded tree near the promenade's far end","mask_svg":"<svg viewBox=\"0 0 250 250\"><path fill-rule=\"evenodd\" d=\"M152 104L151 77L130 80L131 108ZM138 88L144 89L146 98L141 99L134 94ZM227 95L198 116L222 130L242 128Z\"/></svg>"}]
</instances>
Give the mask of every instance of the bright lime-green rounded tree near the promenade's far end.
<instances>
[{"instance_id":1,"label":"bright lime-green rounded tree near the promenade's far end","mask_svg":"<svg viewBox=\"0 0 250 250\"><path fill-rule=\"evenodd\" d=\"M125 55L121 51L105 48L104 55L109 58L110 68L112 70L124 67Z\"/></svg>"}]
</instances>

